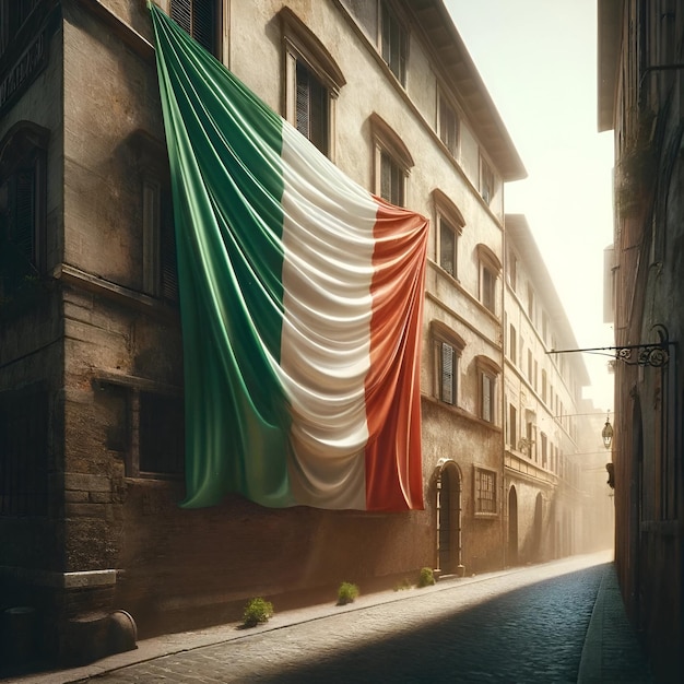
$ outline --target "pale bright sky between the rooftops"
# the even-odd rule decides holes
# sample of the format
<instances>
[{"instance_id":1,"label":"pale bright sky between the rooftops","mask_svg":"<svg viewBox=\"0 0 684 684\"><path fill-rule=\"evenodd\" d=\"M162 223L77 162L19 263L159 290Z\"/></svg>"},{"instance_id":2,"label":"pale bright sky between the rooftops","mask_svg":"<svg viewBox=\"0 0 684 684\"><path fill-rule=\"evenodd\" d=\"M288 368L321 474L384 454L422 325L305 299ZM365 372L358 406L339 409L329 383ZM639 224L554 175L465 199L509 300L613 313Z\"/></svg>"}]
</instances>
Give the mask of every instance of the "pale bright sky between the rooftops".
<instances>
[{"instance_id":1,"label":"pale bright sky between the rooftops","mask_svg":"<svg viewBox=\"0 0 684 684\"><path fill-rule=\"evenodd\" d=\"M595 0L445 0L528 170L507 184L526 214L580 347L611 346L603 250L613 239L613 134L597 132ZM599 409L605 356L583 354Z\"/></svg>"}]
</instances>

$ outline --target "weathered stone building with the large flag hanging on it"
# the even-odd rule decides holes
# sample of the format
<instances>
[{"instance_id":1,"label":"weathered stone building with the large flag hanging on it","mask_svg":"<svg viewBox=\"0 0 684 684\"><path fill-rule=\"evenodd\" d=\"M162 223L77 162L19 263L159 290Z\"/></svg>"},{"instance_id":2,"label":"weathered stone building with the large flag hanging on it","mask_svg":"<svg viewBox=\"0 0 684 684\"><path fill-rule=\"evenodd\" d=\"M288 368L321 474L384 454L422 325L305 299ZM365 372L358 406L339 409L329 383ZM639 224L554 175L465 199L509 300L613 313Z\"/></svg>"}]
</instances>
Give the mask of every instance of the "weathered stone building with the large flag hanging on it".
<instances>
[{"instance_id":1,"label":"weathered stone building with the large flag hanging on it","mask_svg":"<svg viewBox=\"0 0 684 684\"><path fill-rule=\"evenodd\" d=\"M1 0L0 608L35 608L63 656L83 616L117 609L145 637L235 620L252 595L284 609L343 580L502 567L504 184L524 168L444 4L157 4L351 178L431 217L425 510L179 508L178 282L145 2Z\"/></svg>"}]
</instances>

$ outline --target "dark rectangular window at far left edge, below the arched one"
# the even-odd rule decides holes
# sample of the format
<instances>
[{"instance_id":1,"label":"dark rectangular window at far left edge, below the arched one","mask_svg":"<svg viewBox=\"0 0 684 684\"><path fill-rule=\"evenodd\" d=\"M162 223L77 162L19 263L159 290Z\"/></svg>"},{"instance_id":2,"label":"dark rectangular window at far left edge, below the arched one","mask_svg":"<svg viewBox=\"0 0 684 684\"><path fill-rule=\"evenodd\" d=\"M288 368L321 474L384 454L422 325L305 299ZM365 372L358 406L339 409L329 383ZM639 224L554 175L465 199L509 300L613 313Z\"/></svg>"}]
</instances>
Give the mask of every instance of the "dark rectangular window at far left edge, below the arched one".
<instances>
[{"instance_id":1,"label":"dark rectangular window at far left edge, below the arched one","mask_svg":"<svg viewBox=\"0 0 684 684\"><path fill-rule=\"evenodd\" d=\"M47 481L47 391L0 394L0 516L46 515Z\"/></svg>"}]
</instances>

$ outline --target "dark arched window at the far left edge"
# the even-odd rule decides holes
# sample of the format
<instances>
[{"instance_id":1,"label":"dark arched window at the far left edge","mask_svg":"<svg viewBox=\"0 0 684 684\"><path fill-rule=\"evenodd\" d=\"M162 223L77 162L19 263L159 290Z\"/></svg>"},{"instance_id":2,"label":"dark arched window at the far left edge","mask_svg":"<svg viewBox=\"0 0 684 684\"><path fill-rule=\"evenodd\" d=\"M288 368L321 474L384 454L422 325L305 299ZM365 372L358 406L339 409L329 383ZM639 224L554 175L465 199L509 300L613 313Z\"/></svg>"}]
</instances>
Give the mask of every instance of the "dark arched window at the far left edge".
<instances>
[{"instance_id":1,"label":"dark arched window at the far left edge","mask_svg":"<svg viewBox=\"0 0 684 684\"><path fill-rule=\"evenodd\" d=\"M0 299L46 271L46 152L48 132L28 121L0 141Z\"/></svg>"}]
</instances>

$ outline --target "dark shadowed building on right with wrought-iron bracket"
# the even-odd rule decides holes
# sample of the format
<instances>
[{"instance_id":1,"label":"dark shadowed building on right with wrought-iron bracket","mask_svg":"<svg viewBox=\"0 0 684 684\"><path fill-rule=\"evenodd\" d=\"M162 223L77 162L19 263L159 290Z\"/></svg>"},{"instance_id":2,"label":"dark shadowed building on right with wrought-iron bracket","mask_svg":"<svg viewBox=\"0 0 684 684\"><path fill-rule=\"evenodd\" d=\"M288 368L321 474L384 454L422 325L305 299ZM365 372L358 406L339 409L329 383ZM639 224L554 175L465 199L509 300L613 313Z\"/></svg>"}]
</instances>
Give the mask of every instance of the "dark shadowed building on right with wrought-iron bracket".
<instances>
[{"instance_id":1,"label":"dark shadowed building on right with wrought-iron bracket","mask_svg":"<svg viewBox=\"0 0 684 684\"><path fill-rule=\"evenodd\" d=\"M599 130L615 139L615 559L659 681L684 676L684 8L600 0ZM611 253L609 250L606 253Z\"/></svg>"}]
</instances>

